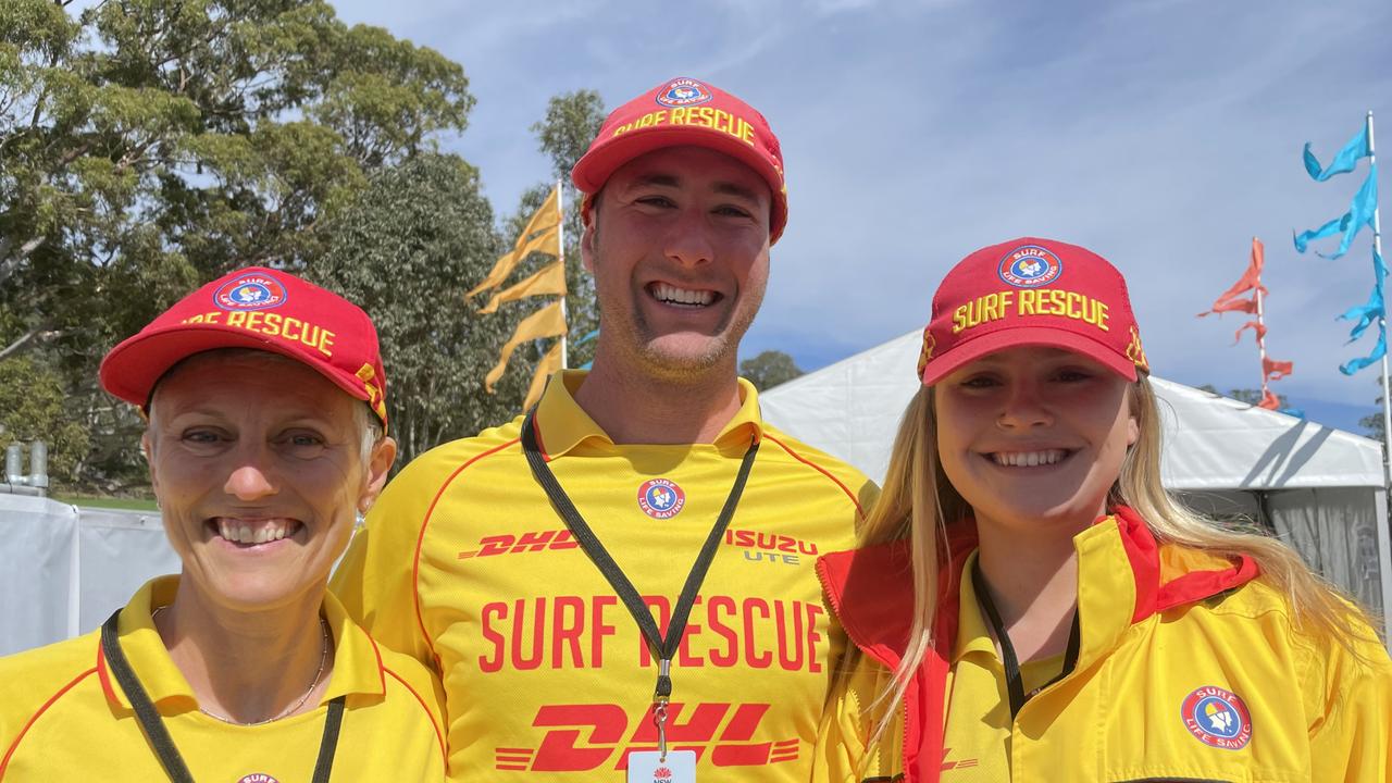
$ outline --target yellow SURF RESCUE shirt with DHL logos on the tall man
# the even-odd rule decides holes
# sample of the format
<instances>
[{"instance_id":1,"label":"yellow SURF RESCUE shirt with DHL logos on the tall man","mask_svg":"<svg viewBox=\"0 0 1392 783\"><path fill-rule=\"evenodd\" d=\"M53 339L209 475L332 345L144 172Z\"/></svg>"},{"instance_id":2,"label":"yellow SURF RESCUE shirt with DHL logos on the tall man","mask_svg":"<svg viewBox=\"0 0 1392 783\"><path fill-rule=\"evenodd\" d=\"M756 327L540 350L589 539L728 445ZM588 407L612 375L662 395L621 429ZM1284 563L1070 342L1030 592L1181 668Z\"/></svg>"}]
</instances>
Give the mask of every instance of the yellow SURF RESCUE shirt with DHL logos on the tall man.
<instances>
[{"instance_id":1,"label":"yellow SURF RESCUE shirt with DHL logos on the tall man","mask_svg":"<svg viewBox=\"0 0 1392 783\"><path fill-rule=\"evenodd\" d=\"M576 405L583 379L547 387L540 450L664 631L759 442L672 660L667 736L703 780L805 782L845 644L813 567L853 543L873 485L764 425L746 382L714 443L631 446ZM411 463L333 585L383 644L441 673L455 780L624 780L628 752L656 748L657 663L532 476L521 424Z\"/></svg>"}]
</instances>

